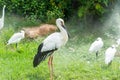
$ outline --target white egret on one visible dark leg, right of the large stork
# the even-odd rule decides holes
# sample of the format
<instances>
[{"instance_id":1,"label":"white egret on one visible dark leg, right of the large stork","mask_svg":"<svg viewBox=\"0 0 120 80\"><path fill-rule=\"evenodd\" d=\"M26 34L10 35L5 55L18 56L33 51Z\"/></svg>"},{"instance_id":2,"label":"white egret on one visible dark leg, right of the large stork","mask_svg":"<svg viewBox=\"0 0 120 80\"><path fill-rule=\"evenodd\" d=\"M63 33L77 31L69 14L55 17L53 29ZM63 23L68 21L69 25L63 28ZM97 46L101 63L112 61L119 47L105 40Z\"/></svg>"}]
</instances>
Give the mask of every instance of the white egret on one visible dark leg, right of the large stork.
<instances>
[{"instance_id":1,"label":"white egret on one visible dark leg, right of the large stork","mask_svg":"<svg viewBox=\"0 0 120 80\"><path fill-rule=\"evenodd\" d=\"M90 48L89 51L90 52L95 52L96 53L96 57L98 56L98 51L103 47L103 41L102 38L98 37L97 40L95 40Z\"/></svg>"}]
</instances>

